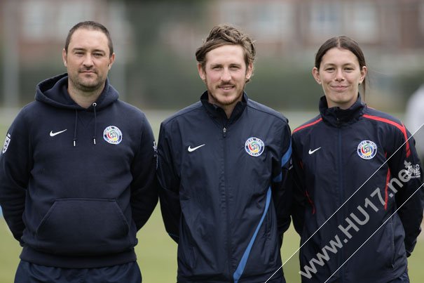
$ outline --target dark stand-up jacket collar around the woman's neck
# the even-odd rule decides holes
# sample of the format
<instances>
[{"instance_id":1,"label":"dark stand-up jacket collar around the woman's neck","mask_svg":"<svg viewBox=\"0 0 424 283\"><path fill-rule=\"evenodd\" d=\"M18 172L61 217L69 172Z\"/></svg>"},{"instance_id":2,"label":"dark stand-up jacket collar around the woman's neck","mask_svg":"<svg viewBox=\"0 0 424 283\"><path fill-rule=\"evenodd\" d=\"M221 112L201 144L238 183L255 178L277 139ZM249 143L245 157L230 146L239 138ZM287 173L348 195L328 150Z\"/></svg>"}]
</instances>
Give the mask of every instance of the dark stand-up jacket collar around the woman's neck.
<instances>
[{"instance_id":1,"label":"dark stand-up jacket collar around the woman's neck","mask_svg":"<svg viewBox=\"0 0 424 283\"><path fill-rule=\"evenodd\" d=\"M320 98L320 113L322 119L332 126L343 126L343 124L355 123L362 114L364 114L367 105L362 102L358 93L357 100L348 109L343 110L340 107L328 107L325 96Z\"/></svg>"}]
</instances>

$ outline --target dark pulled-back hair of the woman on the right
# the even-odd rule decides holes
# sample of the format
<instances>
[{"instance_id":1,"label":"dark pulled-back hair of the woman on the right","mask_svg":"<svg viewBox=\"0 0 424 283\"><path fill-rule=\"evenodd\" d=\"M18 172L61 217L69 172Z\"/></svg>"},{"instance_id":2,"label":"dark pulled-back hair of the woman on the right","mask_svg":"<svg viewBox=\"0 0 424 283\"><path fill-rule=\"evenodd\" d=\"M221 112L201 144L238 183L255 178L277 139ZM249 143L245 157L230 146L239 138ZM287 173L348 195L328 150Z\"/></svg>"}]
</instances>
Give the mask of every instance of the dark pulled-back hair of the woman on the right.
<instances>
[{"instance_id":1,"label":"dark pulled-back hair of the woman on the right","mask_svg":"<svg viewBox=\"0 0 424 283\"><path fill-rule=\"evenodd\" d=\"M322 61L322 57L329 51L331 48L342 48L346 49L353 54L355 54L358 62L360 63L360 68L367 67L367 62L365 62L365 56L362 52L362 49L360 48L360 45L357 44L357 42L350 37L346 37L346 35L341 35L338 37L331 37L331 39L327 39L327 41L322 44L320 49L318 49L317 54L315 55L315 67L320 70L320 65ZM362 90L364 93L362 95L365 95L365 79L362 81Z\"/></svg>"}]
</instances>

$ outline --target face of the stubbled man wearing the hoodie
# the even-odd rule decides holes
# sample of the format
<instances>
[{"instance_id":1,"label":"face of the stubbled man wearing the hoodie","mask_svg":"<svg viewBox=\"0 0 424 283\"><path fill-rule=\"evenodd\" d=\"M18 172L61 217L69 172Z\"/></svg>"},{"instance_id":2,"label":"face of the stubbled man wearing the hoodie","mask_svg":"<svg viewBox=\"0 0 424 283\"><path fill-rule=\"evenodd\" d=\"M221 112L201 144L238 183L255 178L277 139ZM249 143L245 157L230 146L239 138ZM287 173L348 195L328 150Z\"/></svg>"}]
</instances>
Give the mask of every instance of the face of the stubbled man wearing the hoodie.
<instances>
[{"instance_id":1,"label":"face of the stubbled man wearing the hoodie","mask_svg":"<svg viewBox=\"0 0 424 283\"><path fill-rule=\"evenodd\" d=\"M78 93L91 93L104 87L104 81L114 63L109 56L107 36L99 30L77 29L69 41L68 52L62 58L67 67L69 88Z\"/></svg>"}]
</instances>

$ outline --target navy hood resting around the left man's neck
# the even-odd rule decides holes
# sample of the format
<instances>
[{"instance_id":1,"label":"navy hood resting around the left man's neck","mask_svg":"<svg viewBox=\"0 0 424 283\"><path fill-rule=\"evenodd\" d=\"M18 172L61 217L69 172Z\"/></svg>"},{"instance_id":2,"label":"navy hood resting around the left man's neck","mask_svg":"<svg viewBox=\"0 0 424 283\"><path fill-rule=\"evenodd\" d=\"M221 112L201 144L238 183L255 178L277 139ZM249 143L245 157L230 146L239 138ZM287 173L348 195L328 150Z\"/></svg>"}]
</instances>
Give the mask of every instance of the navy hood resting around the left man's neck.
<instances>
[{"instance_id":1,"label":"navy hood resting around the left man's neck","mask_svg":"<svg viewBox=\"0 0 424 283\"><path fill-rule=\"evenodd\" d=\"M86 110L90 112L102 110L104 107L107 107L118 99L118 91L109 84L109 79L106 80L102 93L95 101L95 107L92 105L87 109L81 107L72 100L67 88L68 74L60 74L56 77L41 81L41 83L36 86L35 99L53 107Z\"/></svg>"}]
</instances>

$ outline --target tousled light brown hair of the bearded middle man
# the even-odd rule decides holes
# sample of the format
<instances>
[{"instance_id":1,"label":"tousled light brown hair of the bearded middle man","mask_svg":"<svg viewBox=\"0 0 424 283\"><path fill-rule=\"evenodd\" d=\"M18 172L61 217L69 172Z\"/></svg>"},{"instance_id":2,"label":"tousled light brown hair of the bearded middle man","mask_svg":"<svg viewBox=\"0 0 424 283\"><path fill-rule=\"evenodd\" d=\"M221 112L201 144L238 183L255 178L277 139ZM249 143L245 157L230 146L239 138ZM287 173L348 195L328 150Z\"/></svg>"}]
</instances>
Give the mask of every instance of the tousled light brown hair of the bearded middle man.
<instances>
[{"instance_id":1,"label":"tousled light brown hair of the bearded middle man","mask_svg":"<svg viewBox=\"0 0 424 283\"><path fill-rule=\"evenodd\" d=\"M200 63L203 70L205 70L206 54L214 48L224 45L240 45L245 53L246 66L252 63L253 67L256 54L254 41L247 34L241 32L240 29L230 25L217 25L211 29L203 45L196 50L196 60Z\"/></svg>"}]
</instances>

